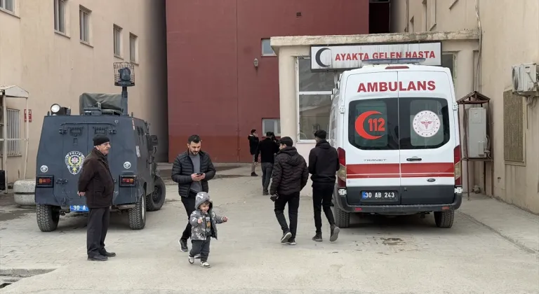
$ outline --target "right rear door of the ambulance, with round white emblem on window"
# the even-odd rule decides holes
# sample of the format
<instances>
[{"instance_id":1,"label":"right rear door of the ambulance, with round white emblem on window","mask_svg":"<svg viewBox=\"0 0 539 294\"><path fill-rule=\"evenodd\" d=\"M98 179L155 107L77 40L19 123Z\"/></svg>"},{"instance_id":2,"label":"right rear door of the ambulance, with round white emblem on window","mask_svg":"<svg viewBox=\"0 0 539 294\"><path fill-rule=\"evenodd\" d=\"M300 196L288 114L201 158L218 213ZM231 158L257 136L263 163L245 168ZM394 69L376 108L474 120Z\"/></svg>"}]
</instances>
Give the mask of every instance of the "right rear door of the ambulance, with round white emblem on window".
<instances>
[{"instance_id":1,"label":"right rear door of the ambulance, with round white emblem on window","mask_svg":"<svg viewBox=\"0 0 539 294\"><path fill-rule=\"evenodd\" d=\"M451 76L421 70L398 75L401 204L452 203L457 141Z\"/></svg>"}]
</instances>

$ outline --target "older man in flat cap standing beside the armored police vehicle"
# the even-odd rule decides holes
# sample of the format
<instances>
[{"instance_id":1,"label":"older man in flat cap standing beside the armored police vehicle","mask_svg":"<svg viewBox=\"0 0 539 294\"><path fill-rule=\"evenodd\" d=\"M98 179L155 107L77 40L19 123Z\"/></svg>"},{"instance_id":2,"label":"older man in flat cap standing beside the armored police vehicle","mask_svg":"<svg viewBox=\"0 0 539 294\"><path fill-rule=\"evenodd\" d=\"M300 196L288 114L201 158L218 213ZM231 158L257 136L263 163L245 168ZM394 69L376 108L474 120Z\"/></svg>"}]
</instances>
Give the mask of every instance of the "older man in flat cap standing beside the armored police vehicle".
<instances>
[{"instance_id":1,"label":"older man in flat cap standing beside the armored police vehicle","mask_svg":"<svg viewBox=\"0 0 539 294\"><path fill-rule=\"evenodd\" d=\"M110 149L109 138L98 134L93 137L93 146L95 147L86 156L82 165L78 194L80 197L86 197L86 206L90 210L86 227L88 260L102 261L116 256L116 253L105 250L114 181L107 160Z\"/></svg>"}]
</instances>

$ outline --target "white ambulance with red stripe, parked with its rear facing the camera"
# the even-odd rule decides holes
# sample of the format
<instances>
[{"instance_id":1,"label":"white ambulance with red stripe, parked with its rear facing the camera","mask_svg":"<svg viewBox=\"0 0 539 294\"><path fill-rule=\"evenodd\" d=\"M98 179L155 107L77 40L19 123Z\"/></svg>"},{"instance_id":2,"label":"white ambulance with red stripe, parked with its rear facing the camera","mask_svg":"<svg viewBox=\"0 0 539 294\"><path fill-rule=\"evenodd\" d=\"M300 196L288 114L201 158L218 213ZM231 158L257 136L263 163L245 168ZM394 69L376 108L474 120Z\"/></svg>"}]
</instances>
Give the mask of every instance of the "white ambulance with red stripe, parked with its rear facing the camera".
<instances>
[{"instance_id":1,"label":"white ambulance with red stripe, parked with its rear facing the camera","mask_svg":"<svg viewBox=\"0 0 539 294\"><path fill-rule=\"evenodd\" d=\"M378 59L340 74L328 141L340 169L335 223L350 214L434 214L451 228L463 198L458 104L449 69Z\"/></svg>"}]
</instances>

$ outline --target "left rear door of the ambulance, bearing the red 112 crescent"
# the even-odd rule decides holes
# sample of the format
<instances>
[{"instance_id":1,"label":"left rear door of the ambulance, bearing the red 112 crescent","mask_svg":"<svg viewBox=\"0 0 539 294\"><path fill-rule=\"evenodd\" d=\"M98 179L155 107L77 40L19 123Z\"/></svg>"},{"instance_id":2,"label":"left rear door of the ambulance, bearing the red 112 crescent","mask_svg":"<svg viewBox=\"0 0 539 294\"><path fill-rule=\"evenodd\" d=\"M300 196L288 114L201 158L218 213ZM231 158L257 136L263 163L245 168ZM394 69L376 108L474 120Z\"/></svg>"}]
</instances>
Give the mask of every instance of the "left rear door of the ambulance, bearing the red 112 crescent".
<instances>
[{"instance_id":1,"label":"left rear door of the ambulance, bearing the red 112 crescent","mask_svg":"<svg viewBox=\"0 0 539 294\"><path fill-rule=\"evenodd\" d=\"M400 204L397 72L347 77L345 137L347 202Z\"/></svg>"}]
</instances>

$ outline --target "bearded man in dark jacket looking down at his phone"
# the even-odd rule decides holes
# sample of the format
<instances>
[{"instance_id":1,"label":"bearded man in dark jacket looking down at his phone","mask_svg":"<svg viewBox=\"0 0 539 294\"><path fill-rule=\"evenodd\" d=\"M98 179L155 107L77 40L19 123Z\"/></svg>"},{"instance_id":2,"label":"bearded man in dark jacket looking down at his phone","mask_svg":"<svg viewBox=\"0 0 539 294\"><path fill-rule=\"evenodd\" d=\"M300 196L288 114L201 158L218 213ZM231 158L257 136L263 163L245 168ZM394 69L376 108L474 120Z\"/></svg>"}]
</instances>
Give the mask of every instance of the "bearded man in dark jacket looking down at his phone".
<instances>
[{"instance_id":1,"label":"bearded man in dark jacket looking down at his phone","mask_svg":"<svg viewBox=\"0 0 539 294\"><path fill-rule=\"evenodd\" d=\"M200 137L192 135L187 139L187 151L178 154L172 165L172 181L178 183L178 193L187 212L187 225L182 237L178 240L182 252L189 251L187 247L187 239L191 237L189 216L195 209L195 197L199 192L208 193L208 181L215 176L215 167L213 167L210 155L201 151L200 148Z\"/></svg>"}]
</instances>

